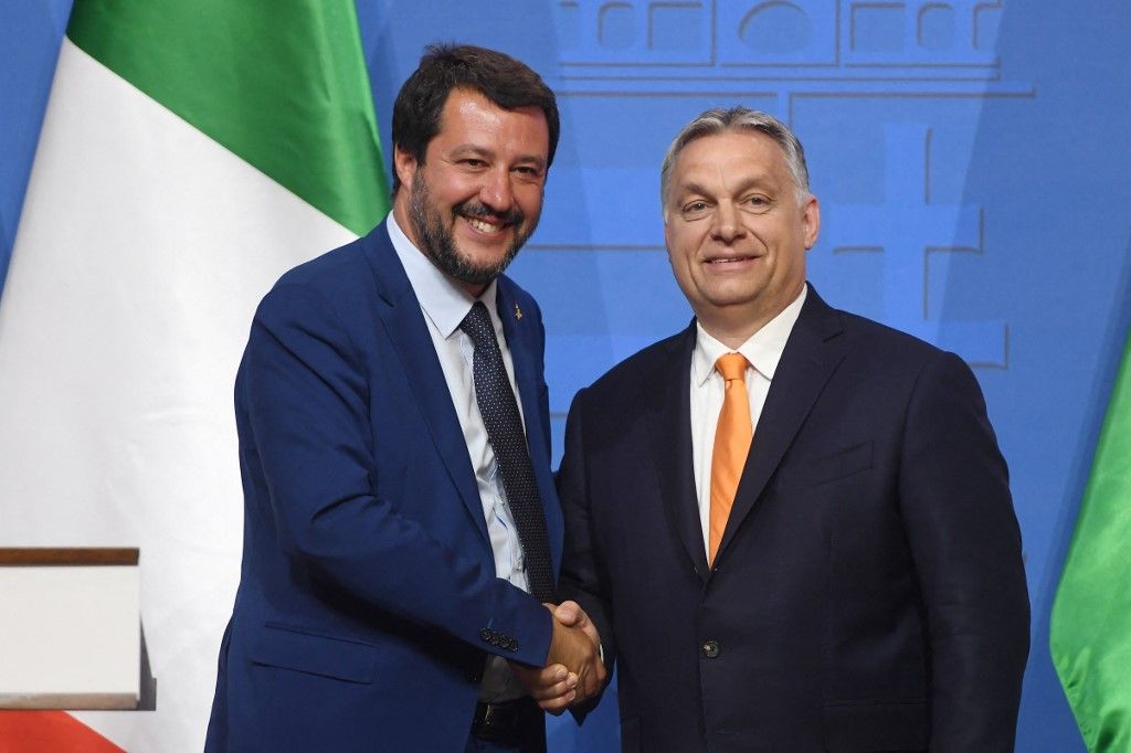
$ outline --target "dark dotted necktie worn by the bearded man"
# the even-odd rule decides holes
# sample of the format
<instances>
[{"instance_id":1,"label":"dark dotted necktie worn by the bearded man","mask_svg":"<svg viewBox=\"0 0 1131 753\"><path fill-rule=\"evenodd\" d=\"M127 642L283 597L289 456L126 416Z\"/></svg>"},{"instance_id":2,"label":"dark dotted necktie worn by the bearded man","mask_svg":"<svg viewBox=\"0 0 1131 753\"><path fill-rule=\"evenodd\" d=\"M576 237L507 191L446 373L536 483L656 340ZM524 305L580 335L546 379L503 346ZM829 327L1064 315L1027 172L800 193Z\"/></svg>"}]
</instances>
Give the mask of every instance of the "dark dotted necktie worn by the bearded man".
<instances>
[{"instance_id":1,"label":"dark dotted necktie worn by the bearded man","mask_svg":"<svg viewBox=\"0 0 1131 753\"><path fill-rule=\"evenodd\" d=\"M553 601L554 575L550 564L550 537L542 512L538 486L534 481L530 455L526 449L526 433L518 413L515 391L495 339L491 314L482 301L476 301L459 328L467 332L475 344L473 372L475 374L475 401L487 429L487 439L494 450L502 487L507 492L507 503L518 527L518 538L523 543L526 557L526 574L530 580L530 594L539 601Z\"/></svg>"}]
</instances>

